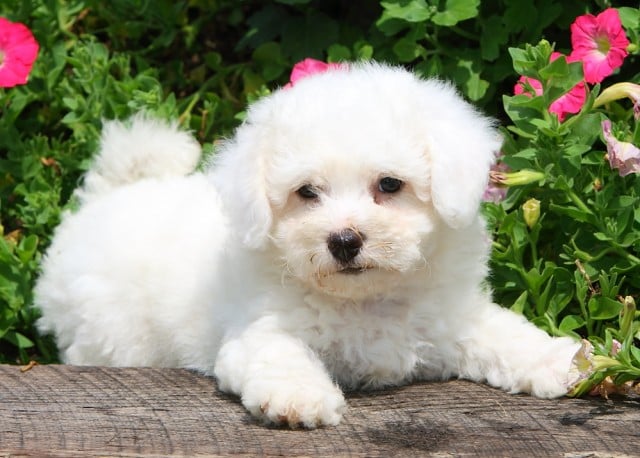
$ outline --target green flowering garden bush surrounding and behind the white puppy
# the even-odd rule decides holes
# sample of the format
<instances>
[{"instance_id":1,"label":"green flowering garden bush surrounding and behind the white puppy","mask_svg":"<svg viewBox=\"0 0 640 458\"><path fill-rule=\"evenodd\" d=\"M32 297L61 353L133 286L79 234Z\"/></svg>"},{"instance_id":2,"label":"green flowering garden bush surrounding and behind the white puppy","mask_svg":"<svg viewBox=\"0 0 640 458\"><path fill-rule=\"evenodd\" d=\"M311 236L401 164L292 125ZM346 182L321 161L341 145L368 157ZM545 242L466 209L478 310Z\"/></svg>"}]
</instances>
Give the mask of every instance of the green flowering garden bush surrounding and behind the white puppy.
<instances>
[{"instance_id":1,"label":"green flowering garden bush surrounding and behind the white puppy","mask_svg":"<svg viewBox=\"0 0 640 458\"><path fill-rule=\"evenodd\" d=\"M34 329L32 287L104 120L139 110L178 119L215 154L247 103L312 57L450 79L495 116L505 143L484 211L496 301L551 334L588 339L577 394L609 375L640 378L632 3L4 0L0 17L25 24L39 52L26 84L0 87L0 362L57 361ZM607 11L627 42L621 50L608 35L594 38L620 65L592 77L571 26ZM0 25L0 53L2 40Z\"/></svg>"}]
</instances>

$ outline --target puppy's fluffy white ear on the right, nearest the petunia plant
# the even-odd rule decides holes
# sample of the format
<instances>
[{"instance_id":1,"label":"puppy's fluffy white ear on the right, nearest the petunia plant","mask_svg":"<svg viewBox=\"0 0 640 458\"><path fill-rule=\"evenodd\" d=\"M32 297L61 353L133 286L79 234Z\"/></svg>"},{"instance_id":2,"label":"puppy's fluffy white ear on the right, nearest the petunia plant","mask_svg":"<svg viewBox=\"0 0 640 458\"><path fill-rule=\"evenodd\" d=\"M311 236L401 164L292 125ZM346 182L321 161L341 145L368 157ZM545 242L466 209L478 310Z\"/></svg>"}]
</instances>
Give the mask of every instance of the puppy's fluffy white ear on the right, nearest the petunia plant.
<instances>
[{"instance_id":1,"label":"puppy's fluffy white ear on the right, nearest the petunia plant","mask_svg":"<svg viewBox=\"0 0 640 458\"><path fill-rule=\"evenodd\" d=\"M474 220L502 139L494 122L442 81L423 82L431 198L452 228Z\"/></svg>"}]
</instances>

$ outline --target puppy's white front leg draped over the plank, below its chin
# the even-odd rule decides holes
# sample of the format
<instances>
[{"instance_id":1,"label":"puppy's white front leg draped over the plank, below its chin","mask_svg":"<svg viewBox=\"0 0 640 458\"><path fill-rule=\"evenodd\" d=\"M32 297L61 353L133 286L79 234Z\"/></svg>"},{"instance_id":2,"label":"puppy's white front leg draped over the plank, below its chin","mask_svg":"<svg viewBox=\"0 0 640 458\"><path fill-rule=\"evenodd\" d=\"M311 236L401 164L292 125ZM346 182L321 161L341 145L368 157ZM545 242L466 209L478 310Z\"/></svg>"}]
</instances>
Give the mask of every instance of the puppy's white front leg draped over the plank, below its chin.
<instances>
[{"instance_id":1,"label":"puppy's white front leg draped over the plank, below its chin","mask_svg":"<svg viewBox=\"0 0 640 458\"><path fill-rule=\"evenodd\" d=\"M318 357L272 318L228 337L214 372L220 389L239 395L249 412L268 423L336 425L346 409Z\"/></svg>"}]
</instances>

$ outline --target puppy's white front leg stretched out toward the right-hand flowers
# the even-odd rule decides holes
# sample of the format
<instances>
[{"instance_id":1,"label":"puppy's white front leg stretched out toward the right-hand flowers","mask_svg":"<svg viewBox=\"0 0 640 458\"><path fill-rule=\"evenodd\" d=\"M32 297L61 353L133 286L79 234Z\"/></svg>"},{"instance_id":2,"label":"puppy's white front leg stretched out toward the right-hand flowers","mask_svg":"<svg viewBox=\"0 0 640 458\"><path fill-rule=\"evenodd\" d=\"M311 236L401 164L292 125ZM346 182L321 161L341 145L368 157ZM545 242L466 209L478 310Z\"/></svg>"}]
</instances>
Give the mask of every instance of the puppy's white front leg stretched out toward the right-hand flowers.
<instances>
[{"instance_id":1,"label":"puppy's white front leg stretched out toward the right-hand flowers","mask_svg":"<svg viewBox=\"0 0 640 458\"><path fill-rule=\"evenodd\" d=\"M460 329L462 378L487 381L511 392L542 398L562 396L569 385L569 367L580 344L553 338L524 317L487 303Z\"/></svg>"}]
</instances>

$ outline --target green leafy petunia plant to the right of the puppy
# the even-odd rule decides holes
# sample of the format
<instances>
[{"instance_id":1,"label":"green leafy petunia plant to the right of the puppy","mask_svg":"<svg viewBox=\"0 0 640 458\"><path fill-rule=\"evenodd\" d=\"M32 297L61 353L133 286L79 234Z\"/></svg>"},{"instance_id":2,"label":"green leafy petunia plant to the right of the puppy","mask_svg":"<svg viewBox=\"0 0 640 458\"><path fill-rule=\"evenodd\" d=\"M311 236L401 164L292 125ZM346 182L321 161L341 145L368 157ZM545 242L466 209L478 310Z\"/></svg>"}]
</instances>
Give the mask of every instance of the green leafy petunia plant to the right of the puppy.
<instances>
[{"instance_id":1,"label":"green leafy petunia plant to the right of the puppy","mask_svg":"<svg viewBox=\"0 0 640 458\"><path fill-rule=\"evenodd\" d=\"M637 46L639 12L625 15ZM605 376L624 382L640 375L640 313L630 306L640 289L640 176L620 176L611 168L601 127L611 120L621 141L638 144L640 123L623 97L599 103L607 80L591 88L580 113L559 122L549 107L582 80L582 66L564 59L549 63L552 50L544 40L509 50L516 72L539 80L543 93L503 96L513 124L505 130L502 162L512 170L507 177L526 170L538 179L510 188L503 202L486 204L485 213L495 231L497 301L513 304L551 334L589 337L597 355L611 355L579 394ZM527 225L529 199L541 209ZM623 347L615 357L614 338Z\"/></svg>"}]
</instances>

